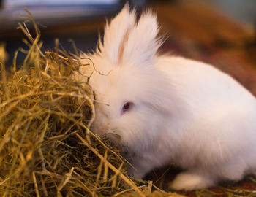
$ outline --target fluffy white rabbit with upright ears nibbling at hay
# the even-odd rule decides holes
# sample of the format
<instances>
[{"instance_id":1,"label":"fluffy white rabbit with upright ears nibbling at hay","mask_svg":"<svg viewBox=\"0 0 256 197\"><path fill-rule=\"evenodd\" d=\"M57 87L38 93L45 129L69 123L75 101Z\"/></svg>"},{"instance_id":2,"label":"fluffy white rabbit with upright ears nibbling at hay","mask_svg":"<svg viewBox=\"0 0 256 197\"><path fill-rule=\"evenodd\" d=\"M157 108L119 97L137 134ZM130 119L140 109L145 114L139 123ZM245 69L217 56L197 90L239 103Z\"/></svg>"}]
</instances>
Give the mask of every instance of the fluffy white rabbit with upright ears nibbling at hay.
<instances>
[{"instance_id":1,"label":"fluffy white rabbit with upright ears nibbling at hay","mask_svg":"<svg viewBox=\"0 0 256 197\"><path fill-rule=\"evenodd\" d=\"M80 68L96 95L92 131L132 156L134 177L180 166L174 190L207 188L255 170L255 97L211 65L157 55L157 34L151 11L137 20L126 5L105 26L97 51L82 55L83 63L94 63Z\"/></svg>"}]
</instances>

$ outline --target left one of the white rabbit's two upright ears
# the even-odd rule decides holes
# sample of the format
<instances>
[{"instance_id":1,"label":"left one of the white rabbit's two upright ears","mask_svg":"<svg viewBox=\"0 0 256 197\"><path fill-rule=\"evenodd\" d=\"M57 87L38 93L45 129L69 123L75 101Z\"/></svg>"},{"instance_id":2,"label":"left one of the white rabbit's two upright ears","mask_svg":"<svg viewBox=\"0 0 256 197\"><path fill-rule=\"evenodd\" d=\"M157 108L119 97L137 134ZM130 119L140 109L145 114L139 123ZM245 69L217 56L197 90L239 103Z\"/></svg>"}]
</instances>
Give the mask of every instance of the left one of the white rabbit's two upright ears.
<instances>
[{"instance_id":1,"label":"left one of the white rabbit's two upright ears","mask_svg":"<svg viewBox=\"0 0 256 197\"><path fill-rule=\"evenodd\" d=\"M124 39L127 39L127 34L135 26L135 22L135 10L131 12L129 4L125 4L121 12L110 21L110 24L107 22L103 43L99 40L99 53L108 57L111 62L119 63L124 47Z\"/></svg>"}]
</instances>

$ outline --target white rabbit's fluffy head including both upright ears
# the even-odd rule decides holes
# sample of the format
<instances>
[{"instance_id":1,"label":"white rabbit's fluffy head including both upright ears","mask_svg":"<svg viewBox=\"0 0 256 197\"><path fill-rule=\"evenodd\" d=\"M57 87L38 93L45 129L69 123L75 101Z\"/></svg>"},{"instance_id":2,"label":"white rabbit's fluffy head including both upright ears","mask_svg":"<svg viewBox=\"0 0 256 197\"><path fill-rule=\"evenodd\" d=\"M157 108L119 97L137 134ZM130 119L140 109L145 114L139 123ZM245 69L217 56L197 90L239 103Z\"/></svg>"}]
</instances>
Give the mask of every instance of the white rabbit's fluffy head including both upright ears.
<instances>
[{"instance_id":1,"label":"white rabbit's fluffy head including both upright ears","mask_svg":"<svg viewBox=\"0 0 256 197\"><path fill-rule=\"evenodd\" d=\"M80 72L90 75L96 118L92 131L118 144L147 143L167 113L167 80L156 68L157 18L144 12L137 20L126 5L105 26L97 51L83 55L92 62ZM83 59L83 57L82 57ZM145 141L145 142L144 142Z\"/></svg>"}]
</instances>

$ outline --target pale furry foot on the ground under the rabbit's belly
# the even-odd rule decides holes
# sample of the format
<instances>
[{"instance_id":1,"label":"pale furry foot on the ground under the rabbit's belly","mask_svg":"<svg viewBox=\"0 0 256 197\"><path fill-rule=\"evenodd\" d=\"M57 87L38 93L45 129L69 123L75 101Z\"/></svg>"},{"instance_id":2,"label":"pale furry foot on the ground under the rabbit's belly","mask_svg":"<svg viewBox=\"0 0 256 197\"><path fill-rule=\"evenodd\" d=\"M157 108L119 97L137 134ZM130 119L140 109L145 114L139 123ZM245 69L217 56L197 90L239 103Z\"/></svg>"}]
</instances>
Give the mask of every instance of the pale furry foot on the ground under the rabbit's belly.
<instances>
[{"instance_id":1,"label":"pale furry foot on the ground under the rabbit's belly","mask_svg":"<svg viewBox=\"0 0 256 197\"><path fill-rule=\"evenodd\" d=\"M178 174L170 183L173 190L197 190L214 185L214 179L200 172L186 171Z\"/></svg>"}]
</instances>

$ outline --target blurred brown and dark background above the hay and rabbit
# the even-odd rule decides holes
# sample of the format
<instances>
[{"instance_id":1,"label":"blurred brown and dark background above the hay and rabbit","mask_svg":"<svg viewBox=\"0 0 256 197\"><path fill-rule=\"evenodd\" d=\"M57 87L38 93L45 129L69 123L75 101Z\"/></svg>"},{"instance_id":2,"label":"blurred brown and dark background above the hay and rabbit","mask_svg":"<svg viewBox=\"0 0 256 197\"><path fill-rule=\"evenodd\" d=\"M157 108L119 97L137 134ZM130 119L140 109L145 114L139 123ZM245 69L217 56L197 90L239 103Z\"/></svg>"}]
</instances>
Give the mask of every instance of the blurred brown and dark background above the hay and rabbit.
<instances>
[{"instance_id":1,"label":"blurred brown and dark background above the hay and rabbit","mask_svg":"<svg viewBox=\"0 0 256 197\"><path fill-rule=\"evenodd\" d=\"M160 34L166 42L161 53L183 55L212 63L228 72L256 95L255 0L131 0L138 12L151 7L157 12ZM121 0L0 0L0 43L12 57L26 36L17 29L28 18L27 7L41 30L44 49L55 39L71 53L90 52L97 44L106 18L112 18L126 1ZM124 21L125 23L125 21ZM33 28L26 23L31 34ZM25 55L18 53L18 65Z\"/></svg>"}]
</instances>

